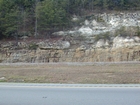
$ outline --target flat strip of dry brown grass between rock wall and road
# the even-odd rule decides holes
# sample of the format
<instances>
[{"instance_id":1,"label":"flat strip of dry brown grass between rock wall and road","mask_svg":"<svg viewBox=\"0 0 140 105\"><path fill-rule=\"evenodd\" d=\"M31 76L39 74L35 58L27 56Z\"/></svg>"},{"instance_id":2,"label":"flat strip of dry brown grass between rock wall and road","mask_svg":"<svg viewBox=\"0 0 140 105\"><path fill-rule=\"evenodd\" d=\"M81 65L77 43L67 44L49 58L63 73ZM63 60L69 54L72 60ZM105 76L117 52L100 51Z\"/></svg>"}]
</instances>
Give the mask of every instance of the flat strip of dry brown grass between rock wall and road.
<instances>
[{"instance_id":1,"label":"flat strip of dry brown grass between rock wall and road","mask_svg":"<svg viewBox=\"0 0 140 105\"><path fill-rule=\"evenodd\" d=\"M140 64L0 65L0 82L139 84Z\"/></svg>"}]
</instances>

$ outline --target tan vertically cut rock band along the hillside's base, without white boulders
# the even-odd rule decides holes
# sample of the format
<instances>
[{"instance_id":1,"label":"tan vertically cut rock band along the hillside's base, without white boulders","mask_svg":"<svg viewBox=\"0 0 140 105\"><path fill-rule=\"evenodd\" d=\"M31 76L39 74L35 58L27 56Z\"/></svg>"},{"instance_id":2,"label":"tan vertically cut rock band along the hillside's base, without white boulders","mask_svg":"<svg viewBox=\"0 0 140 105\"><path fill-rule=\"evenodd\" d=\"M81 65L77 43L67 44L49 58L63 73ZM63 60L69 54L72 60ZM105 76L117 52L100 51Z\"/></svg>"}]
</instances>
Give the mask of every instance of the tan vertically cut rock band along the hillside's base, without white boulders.
<instances>
[{"instance_id":1,"label":"tan vertically cut rock band along the hillside's base, without white boulders","mask_svg":"<svg viewBox=\"0 0 140 105\"><path fill-rule=\"evenodd\" d=\"M1 54L1 62L117 62L140 61L140 47L91 50L9 51Z\"/></svg>"}]
</instances>

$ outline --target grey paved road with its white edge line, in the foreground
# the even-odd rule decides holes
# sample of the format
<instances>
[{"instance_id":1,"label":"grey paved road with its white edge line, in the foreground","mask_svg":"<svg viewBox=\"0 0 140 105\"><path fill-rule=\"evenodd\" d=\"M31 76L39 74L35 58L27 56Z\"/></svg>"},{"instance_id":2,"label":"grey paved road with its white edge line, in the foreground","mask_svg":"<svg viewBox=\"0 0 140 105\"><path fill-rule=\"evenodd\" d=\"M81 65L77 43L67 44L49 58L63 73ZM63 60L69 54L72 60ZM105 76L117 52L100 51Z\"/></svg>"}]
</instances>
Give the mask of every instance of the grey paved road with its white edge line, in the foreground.
<instances>
[{"instance_id":1,"label":"grey paved road with its white edge line, in the foreground","mask_svg":"<svg viewBox=\"0 0 140 105\"><path fill-rule=\"evenodd\" d=\"M0 105L140 105L140 85L0 83Z\"/></svg>"}]
</instances>

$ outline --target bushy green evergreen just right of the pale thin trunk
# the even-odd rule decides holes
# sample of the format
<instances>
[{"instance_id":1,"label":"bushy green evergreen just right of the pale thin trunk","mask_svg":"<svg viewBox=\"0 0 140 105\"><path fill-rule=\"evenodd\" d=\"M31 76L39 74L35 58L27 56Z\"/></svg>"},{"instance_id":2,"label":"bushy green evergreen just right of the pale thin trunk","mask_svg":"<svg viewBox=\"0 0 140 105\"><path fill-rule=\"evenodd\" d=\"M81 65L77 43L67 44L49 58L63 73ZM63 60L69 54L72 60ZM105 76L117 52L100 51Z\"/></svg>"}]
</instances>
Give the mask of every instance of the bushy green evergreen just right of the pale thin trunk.
<instances>
[{"instance_id":1,"label":"bushy green evergreen just right of the pale thin trunk","mask_svg":"<svg viewBox=\"0 0 140 105\"><path fill-rule=\"evenodd\" d=\"M51 31L67 25L67 13L58 2L60 1L45 0L38 5L37 16L40 31Z\"/></svg>"}]
</instances>

